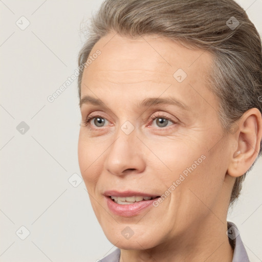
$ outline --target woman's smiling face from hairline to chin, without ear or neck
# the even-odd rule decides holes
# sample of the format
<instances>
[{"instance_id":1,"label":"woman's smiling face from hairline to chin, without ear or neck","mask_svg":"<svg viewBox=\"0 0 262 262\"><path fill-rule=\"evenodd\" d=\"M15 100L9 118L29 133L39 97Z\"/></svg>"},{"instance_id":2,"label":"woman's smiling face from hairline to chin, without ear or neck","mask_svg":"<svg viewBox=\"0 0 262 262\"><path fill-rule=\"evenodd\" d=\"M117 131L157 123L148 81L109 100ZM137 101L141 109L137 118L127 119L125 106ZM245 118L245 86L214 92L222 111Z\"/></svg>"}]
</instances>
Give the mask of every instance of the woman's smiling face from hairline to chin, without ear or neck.
<instances>
[{"instance_id":1,"label":"woman's smiling face from hairline to chin, without ear or neck","mask_svg":"<svg viewBox=\"0 0 262 262\"><path fill-rule=\"evenodd\" d=\"M201 223L221 223L231 190L229 146L205 82L210 54L114 33L91 56L97 50L82 77L78 158L106 237L123 249L147 249ZM137 202L117 204L105 194ZM164 197L140 202L145 195Z\"/></svg>"}]
</instances>

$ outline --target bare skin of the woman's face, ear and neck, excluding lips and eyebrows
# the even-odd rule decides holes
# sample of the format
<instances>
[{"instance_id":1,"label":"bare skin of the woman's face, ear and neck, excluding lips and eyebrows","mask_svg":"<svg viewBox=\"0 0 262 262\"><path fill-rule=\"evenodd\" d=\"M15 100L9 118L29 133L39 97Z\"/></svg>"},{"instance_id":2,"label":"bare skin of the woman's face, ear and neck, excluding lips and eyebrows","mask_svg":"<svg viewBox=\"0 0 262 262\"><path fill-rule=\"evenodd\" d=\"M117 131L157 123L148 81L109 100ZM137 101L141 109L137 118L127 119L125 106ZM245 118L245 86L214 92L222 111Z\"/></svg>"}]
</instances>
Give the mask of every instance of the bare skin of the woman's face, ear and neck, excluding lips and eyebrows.
<instances>
[{"instance_id":1,"label":"bare skin of the woman's face, ear and neck, excluding lips and eyebrows","mask_svg":"<svg viewBox=\"0 0 262 262\"><path fill-rule=\"evenodd\" d=\"M212 57L157 35L127 38L112 32L91 55L101 55L83 72L81 98L100 98L103 106L81 104L78 158L96 217L108 240L121 249L120 261L232 261L227 211L235 178L255 161L261 140L261 114L247 111L234 134L223 132L219 101L207 88ZM173 74L183 69L180 83ZM139 107L148 97L173 97L177 105ZM88 116L96 118L85 126ZM167 126L159 121L170 118ZM149 117L154 114L155 120ZM134 130L126 135L121 126ZM98 126L97 126L98 125ZM241 151L237 154L237 151ZM206 158L158 207L133 217L113 214L105 190L162 195L202 155ZM129 226L134 235L121 231Z\"/></svg>"}]
</instances>

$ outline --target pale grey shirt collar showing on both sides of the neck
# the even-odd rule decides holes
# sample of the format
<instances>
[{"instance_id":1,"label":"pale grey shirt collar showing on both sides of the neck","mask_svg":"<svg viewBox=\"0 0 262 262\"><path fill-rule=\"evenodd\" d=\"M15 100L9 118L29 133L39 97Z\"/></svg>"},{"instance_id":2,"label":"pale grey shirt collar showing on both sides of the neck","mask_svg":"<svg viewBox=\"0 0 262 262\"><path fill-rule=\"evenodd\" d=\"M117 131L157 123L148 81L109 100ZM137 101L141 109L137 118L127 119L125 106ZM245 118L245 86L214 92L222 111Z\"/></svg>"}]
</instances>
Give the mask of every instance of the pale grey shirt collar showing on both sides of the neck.
<instances>
[{"instance_id":1,"label":"pale grey shirt collar showing on both sides of the neck","mask_svg":"<svg viewBox=\"0 0 262 262\"><path fill-rule=\"evenodd\" d=\"M232 262L250 262L248 258L247 251L241 240L237 227L232 222L227 222L227 235L229 243L234 250ZM111 254L104 257L101 262L119 262L120 259L120 249L117 248Z\"/></svg>"}]
</instances>

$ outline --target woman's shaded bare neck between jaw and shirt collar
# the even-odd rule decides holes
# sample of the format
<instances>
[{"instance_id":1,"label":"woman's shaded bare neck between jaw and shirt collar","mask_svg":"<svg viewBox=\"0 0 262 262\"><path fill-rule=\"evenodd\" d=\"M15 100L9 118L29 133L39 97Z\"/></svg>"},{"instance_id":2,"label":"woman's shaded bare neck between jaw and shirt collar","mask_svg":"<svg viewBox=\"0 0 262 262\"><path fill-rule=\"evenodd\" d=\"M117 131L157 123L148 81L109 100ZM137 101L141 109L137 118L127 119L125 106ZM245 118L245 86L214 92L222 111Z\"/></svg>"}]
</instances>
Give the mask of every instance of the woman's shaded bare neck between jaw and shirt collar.
<instances>
[{"instance_id":1,"label":"woman's shaded bare neck between jaw and shirt collar","mask_svg":"<svg viewBox=\"0 0 262 262\"><path fill-rule=\"evenodd\" d=\"M197 226L188 227L183 235L167 239L156 247L147 250L121 249L120 262L232 262L233 250L226 231L226 219L222 222L211 213Z\"/></svg>"}]
</instances>

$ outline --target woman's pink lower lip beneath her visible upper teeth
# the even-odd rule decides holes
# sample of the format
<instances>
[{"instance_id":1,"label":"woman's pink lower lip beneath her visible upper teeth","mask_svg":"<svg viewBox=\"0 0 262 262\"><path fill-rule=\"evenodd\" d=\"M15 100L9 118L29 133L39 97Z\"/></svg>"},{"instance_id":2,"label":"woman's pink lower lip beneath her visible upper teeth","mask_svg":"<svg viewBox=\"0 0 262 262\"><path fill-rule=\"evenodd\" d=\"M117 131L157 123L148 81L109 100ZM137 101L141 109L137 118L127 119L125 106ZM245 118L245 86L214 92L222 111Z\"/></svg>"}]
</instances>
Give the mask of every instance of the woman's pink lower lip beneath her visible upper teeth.
<instances>
[{"instance_id":1,"label":"woman's pink lower lip beneath her visible upper teeth","mask_svg":"<svg viewBox=\"0 0 262 262\"><path fill-rule=\"evenodd\" d=\"M151 200L143 200L140 202L135 202L134 204L128 204L128 205L120 205L117 204L114 200L111 199L111 197L105 197L107 201L108 208L115 214L121 215L121 216L134 216L139 214L141 211L145 210L146 208L152 207L152 203L155 201L155 199Z\"/></svg>"}]
</instances>

